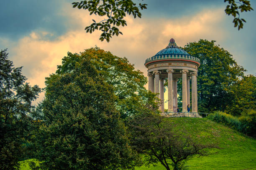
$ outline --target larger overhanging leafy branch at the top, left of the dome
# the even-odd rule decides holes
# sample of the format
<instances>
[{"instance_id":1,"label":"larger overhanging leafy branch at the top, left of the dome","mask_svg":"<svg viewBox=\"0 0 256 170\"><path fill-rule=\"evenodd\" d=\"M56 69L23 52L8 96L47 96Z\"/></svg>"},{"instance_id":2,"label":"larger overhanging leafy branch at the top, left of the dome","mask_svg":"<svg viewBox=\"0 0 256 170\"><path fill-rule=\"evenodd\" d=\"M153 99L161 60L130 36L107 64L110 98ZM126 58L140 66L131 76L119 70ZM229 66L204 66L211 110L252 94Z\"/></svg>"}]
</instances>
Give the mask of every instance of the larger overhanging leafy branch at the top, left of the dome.
<instances>
[{"instance_id":1,"label":"larger overhanging leafy branch at the top, left of the dome","mask_svg":"<svg viewBox=\"0 0 256 170\"><path fill-rule=\"evenodd\" d=\"M78 9L88 10L90 15L95 14L99 16L106 16L108 19L104 19L98 23L92 20L93 23L85 28L86 32L94 32L95 30L101 30L100 40L104 39L109 42L113 35L118 36L122 34L118 27L120 25L125 26L126 21L123 19L126 14L133 15L134 18L141 18L141 10L146 9L146 4L133 3L132 0L84 0L81 2L73 2L73 7Z\"/></svg>"}]
</instances>

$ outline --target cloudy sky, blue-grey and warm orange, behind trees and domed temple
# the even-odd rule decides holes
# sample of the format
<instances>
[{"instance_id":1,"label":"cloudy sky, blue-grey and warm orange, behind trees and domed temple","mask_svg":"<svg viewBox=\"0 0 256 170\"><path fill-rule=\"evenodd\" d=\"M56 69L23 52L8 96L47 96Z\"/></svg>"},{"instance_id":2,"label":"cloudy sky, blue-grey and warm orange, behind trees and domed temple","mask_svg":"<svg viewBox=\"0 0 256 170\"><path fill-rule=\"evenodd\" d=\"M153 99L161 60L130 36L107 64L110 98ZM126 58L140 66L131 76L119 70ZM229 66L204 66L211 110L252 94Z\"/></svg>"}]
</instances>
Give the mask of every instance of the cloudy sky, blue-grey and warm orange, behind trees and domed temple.
<instances>
[{"instance_id":1,"label":"cloudy sky, blue-grey and warm orange, behind trees and domed temple","mask_svg":"<svg viewBox=\"0 0 256 170\"><path fill-rule=\"evenodd\" d=\"M78 0L79 1L79 0ZM256 12L242 13L242 30L233 27L225 15L224 0L136 0L148 4L141 19L126 17L123 35L110 42L99 40L100 32L86 33L92 19L84 10L72 8L75 0L2 0L0 1L0 48L8 48L15 67L31 85L44 87L44 78L56 71L67 52L98 47L119 57L127 57L136 69L147 75L144 62L166 47L170 38L178 46L200 39L216 40L246 70L256 73ZM251 0L256 10L256 1ZM41 94L39 100L43 99Z\"/></svg>"}]
</instances>

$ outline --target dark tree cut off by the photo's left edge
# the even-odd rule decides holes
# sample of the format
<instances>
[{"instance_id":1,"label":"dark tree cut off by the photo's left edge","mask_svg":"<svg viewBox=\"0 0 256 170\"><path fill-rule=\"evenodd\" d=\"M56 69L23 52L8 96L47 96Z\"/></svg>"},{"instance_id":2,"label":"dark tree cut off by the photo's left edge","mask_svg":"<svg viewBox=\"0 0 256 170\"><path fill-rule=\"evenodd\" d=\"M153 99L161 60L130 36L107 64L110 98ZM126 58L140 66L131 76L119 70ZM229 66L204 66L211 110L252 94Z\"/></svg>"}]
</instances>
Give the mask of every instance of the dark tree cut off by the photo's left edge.
<instances>
[{"instance_id":1,"label":"dark tree cut off by the photo's left edge","mask_svg":"<svg viewBox=\"0 0 256 170\"><path fill-rule=\"evenodd\" d=\"M7 50L0 51L0 169L18 170L25 153L25 137L32 121L28 117L31 102L41 89L31 87L22 75L22 67L13 67Z\"/></svg>"}]
</instances>

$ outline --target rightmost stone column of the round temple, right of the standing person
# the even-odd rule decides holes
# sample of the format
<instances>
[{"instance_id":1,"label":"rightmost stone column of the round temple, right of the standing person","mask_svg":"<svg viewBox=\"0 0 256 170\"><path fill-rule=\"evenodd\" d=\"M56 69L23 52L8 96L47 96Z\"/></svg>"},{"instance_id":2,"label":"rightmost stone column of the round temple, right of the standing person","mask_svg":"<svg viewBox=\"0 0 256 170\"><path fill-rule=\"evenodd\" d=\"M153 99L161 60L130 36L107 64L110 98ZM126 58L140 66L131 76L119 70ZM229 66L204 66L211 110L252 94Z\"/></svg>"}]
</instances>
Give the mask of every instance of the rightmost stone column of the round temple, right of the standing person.
<instances>
[{"instance_id":1,"label":"rightmost stone column of the round temple, right of the standing person","mask_svg":"<svg viewBox=\"0 0 256 170\"><path fill-rule=\"evenodd\" d=\"M192 86L192 112L197 112L197 72L192 72L192 80L191 80L191 86Z\"/></svg>"}]
</instances>

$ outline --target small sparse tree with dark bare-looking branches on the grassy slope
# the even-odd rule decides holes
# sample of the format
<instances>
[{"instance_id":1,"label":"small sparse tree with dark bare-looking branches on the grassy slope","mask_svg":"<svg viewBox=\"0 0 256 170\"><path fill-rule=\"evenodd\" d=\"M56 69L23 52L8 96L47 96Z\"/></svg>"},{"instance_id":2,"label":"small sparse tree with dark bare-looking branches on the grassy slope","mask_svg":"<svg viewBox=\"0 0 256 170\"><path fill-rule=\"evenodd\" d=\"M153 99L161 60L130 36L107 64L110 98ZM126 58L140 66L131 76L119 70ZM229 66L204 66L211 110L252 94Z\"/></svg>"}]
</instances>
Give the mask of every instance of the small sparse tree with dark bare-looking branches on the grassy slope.
<instances>
[{"instance_id":1,"label":"small sparse tree with dark bare-looking branches on the grassy slope","mask_svg":"<svg viewBox=\"0 0 256 170\"><path fill-rule=\"evenodd\" d=\"M198 138L193 139L180 128L175 129L169 118L156 114L131 118L130 131L132 144L144 155L146 165L160 162L166 170L170 170L170 165L174 170L182 170L187 160L208 155L206 148L216 148L213 144L203 144Z\"/></svg>"}]
</instances>

